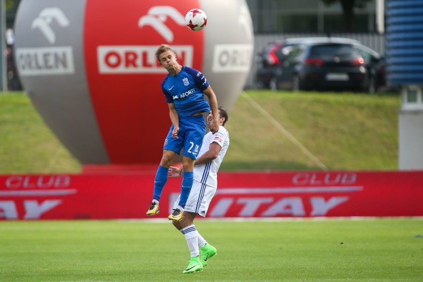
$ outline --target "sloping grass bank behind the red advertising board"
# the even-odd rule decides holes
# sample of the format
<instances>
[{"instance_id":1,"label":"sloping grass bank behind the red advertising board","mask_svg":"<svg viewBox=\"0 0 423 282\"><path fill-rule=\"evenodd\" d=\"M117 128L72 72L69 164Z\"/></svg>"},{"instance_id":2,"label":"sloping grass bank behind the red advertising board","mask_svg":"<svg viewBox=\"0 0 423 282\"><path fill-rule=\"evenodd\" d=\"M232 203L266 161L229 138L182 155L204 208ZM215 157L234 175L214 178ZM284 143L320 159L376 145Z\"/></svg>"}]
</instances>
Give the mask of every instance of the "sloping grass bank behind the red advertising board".
<instances>
[{"instance_id":1,"label":"sloping grass bank behind the red advertising board","mask_svg":"<svg viewBox=\"0 0 423 282\"><path fill-rule=\"evenodd\" d=\"M398 94L248 90L221 170L396 170L400 106ZM0 174L80 171L25 93L0 93Z\"/></svg>"}]
</instances>

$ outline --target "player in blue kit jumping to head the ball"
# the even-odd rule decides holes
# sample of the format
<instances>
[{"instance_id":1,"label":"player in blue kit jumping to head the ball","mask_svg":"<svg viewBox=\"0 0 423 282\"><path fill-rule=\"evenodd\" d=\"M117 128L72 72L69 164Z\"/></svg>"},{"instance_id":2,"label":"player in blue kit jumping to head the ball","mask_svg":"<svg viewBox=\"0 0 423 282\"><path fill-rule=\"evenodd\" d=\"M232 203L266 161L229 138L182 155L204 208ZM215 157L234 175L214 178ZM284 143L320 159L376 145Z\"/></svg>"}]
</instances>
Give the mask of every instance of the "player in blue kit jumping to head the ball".
<instances>
[{"instance_id":1,"label":"player in blue kit jumping to head the ball","mask_svg":"<svg viewBox=\"0 0 423 282\"><path fill-rule=\"evenodd\" d=\"M156 57L159 64L169 72L163 79L161 88L169 106L172 126L164 141L163 156L154 179L153 200L146 214L151 216L159 213L159 200L167 182L169 167L183 148L181 197L178 206L168 216L171 220L179 221L193 186L194 163L206 134L203 113L211 110L213 121L210 131L214 134L219 130L219 112L216 95L203 73L181 66L169 45L160 45ZM204 95L209 98L210 105Z\"/></svg>"}]
</instances>

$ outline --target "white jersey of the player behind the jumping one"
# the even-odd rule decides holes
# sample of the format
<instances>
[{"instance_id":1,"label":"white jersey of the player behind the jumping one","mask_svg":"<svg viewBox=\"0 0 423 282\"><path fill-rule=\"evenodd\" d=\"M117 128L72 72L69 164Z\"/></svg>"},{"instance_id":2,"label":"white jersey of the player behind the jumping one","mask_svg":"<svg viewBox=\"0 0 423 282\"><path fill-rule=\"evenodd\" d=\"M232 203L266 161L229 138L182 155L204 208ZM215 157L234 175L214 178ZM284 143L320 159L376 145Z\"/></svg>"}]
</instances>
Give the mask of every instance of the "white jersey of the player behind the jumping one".
<instances>
[{"instance_id":1,"label":"white jersey of the player behind the jumping one","mask_svg":"<svg viewBox=\"0 0 423 282\"><path fill-rule=\"evenodd\" d=\"M216 142L222 148L214 160L209 161L208 163L194 165L194 179L203 184L217 188L217 171L219 170L219 166L222 163L223 157L229 147L228 131L223 126L219 126L219 131L215 134L212 134L211 132L206 134L204 136L203 145L198 153L199 157L209 150L209 145L212 142Z\"/></svg>"}]
</instances>

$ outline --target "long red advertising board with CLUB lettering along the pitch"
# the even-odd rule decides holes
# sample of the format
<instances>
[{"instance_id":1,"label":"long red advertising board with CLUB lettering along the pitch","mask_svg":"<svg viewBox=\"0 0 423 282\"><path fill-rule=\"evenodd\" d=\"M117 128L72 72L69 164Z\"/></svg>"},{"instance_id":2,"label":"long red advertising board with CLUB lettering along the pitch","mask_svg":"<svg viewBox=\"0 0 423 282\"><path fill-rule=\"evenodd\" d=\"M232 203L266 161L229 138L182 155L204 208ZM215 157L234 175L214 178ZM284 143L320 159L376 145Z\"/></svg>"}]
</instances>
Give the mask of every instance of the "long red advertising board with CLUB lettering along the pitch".
<instances>
[{"instance_id":1,"label":"long red advertising board with CLUB lettering along the pitch","mask_svg":"<svg viewBox=\"0 0 423 282\"><path fill-rule=\"evenodd\" d=\"M423 171L221 172L207 217L423 216ZM0 219L147 218L154 171L0 176ZM160 199L166 218L181 178ZM200 213L205 213L200 211Z\"/></svg>"}]
</instances>

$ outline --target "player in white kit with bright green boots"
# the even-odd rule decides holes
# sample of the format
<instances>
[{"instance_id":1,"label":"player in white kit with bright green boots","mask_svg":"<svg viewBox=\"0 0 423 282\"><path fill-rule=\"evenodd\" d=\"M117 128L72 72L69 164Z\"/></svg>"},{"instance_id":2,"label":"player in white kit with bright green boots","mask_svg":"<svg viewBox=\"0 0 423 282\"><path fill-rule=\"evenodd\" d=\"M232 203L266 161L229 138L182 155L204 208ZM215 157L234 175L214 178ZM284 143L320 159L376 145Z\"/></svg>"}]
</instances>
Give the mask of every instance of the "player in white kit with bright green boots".
<instances>
[{"instance_id":1,"label":"player in white kit with bright green boots","mask_svg":"<svg viewBox=\"0 0 423 282\"><path fill-rule=\"evenodd\" d=\"M219 107L218 112L219 130L215 134L209 132L203 139L194 165L194 184L185 205L183 217L180 221L172 221L173 225L185 235L191 253L190 262L183 273L202 271L203 267L207 265L208 259L217 253L216 248L208 244L197 231L194 218L197 214L203 217L207 214L211 199L217 189L217 171L229 147L229 133L223 127L228 116L223 107ZM212 120L213 116L210 112L207 117L209 125ZM179 169L171 166L168 175L169 177L181 176L182 167ZM179 197L175 201L174 207L178 203Z\"/></svg>"}]
</instances>

